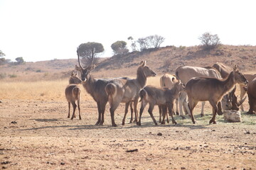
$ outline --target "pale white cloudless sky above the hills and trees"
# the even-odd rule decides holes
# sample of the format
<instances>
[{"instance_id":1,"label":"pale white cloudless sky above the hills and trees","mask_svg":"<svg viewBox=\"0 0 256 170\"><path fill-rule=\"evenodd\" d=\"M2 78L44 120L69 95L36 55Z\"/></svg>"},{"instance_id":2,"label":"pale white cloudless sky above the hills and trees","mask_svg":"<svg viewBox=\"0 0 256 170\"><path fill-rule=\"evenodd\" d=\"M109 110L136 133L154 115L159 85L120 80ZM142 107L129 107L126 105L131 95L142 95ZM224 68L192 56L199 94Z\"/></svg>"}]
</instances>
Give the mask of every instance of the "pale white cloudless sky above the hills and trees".
<instances>
[{"instance_id":1,"label":"pale white cloudless sky above the hills and trees","mask_svg":"<svg viewBox=\"0 0 256 170\"><path fill-rule=\"evenodd\" d=\"M203 33L225 45L256 45L255 0L0 0L0 50L26 62L76 58L85 42L111 57L117 40L161 35L166 45L200 45Z\"/></svg>"}]
</instances>

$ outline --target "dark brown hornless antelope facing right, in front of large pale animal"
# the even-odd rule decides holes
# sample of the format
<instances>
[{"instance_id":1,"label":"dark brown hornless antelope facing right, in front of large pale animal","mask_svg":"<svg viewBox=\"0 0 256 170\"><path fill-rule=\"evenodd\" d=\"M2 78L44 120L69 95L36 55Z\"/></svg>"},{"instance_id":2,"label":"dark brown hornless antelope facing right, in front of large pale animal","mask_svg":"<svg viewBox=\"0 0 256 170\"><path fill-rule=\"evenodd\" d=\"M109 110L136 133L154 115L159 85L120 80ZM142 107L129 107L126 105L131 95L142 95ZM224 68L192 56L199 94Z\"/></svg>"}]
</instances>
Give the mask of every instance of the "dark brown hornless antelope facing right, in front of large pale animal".
<instances>
[{"instance_id":1,"label":"dark brown hornless antelope facing right, in front of large pale animal","mask_svg":"<svg viewBox=\"0 0 256 170\"><path fill-rule=\"evenodd\" d=\"M195 124L193 108L198 101L209 101L213 106L213 118L209 123L215 124L215 116L220 105L220 100L225 94L232 90L235 84L247 84L248 81L238 71L238 65L235 65L233 72L230 72L227 79L215 79L207 77L194 77L186 84L188 94L188 106L191 112L191 120ZM218 105L218 106L217 106Z\"/></svg>"}]
</instances>

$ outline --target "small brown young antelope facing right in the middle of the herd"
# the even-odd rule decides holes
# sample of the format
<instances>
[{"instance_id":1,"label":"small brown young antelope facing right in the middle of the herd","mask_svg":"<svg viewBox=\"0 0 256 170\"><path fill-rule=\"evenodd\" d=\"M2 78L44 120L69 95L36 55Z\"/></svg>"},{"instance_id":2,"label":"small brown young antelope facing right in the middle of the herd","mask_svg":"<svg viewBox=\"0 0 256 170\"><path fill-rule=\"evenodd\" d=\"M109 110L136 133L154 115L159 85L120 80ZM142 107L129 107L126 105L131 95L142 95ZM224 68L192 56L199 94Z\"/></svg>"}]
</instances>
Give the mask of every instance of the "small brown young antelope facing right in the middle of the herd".
<instances>
[{"instance_id":1,"label":"small brown young antelope facing right in the middle of the herd","mask_svg":"<svg viewBox=\"0 0 256 170\"><path fill-rule=\"evenodd\" d=\"M169 89L166 87L157 88L154 86L145 86L141 91L139 91L139 96L142 100L142 106L139 111L139 122L137 125L142 125L142 113L147 103L149 103L149 115L151 116L152 120L154 121L155 125L157 125L154 115L152 113L154 106L158 105L161 106L163 109L163 120L161 124L165 124L165 116L167 113L167 108L169 111L169 115L171 116L172 123L176 124L174 120L174 100L178 97L178 94L184 89L183 84L181 81L178 81L174 84L174 87Z\"/></svg>"}]
</instances>

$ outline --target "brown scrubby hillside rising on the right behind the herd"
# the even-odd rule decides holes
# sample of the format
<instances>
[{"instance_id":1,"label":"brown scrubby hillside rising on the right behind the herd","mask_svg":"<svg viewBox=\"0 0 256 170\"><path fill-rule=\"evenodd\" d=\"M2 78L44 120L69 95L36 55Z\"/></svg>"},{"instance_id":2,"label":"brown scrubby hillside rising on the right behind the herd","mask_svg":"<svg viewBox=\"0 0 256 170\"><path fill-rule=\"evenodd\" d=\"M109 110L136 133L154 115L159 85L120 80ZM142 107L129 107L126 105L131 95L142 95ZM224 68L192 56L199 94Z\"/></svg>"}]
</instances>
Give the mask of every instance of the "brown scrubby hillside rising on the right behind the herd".
<instances>
[{"instance_id":1,"label":"brown scrubby hillside rising on the right behind the herd","mask_svg":"<svg viewBox=\"0 0 256 170\"><path fill-rule=\"evenodd\" d=\"M158 74L172 74L176 67L181 65L206 67L213 65L215 62L223 62L230 67L238 64L242 71L254 72L256 47L222 45L218 49L211 50L210 52L201 50L199 46L161 47L158 50L132 52L123 57L111 57L102 62L96 70L102 76L109 75L110 70L113 77L134 75L141 60L146 60L149 67L154 69ZM118 70L118 72L114 70Z\"/></svg>"}]
</instances>

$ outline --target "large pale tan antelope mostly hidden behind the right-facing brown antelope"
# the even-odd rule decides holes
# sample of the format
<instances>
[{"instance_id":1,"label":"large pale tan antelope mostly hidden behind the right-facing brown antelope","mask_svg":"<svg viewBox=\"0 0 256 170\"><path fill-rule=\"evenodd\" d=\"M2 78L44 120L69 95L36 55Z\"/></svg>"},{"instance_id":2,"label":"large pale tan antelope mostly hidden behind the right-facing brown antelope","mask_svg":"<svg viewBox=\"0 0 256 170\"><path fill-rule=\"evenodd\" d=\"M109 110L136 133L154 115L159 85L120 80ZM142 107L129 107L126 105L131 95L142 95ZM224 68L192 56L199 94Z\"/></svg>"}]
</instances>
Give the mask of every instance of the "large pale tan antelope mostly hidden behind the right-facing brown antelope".
<instances>
[{"instance_id":1,"label":"large pale tan antelope mostly hidden behind the right-facing brown antelope","mask_svg":"<svg viewBox=\"0 0 256 170\"><path fill-rule=\"evenodd\" d=\"M191 66L181 66L178 67L175 71L175 75L177 79L181 80L181 83L186 84L188 80L193 77L213 77L220 79L220 74L217 70L212 67L191 67ZM203 108L206 102L202 102L201 116L204 115ZM188 111L188 105L186 101L186 92L183 92L180 96L178 96L178 105L180 107L180 115L183 117L182 106L184 105ZM221 112L221 111L220 111ZM189 111L188 111L188 114Z\"/></svg>"}]
</instances>

